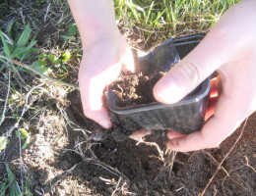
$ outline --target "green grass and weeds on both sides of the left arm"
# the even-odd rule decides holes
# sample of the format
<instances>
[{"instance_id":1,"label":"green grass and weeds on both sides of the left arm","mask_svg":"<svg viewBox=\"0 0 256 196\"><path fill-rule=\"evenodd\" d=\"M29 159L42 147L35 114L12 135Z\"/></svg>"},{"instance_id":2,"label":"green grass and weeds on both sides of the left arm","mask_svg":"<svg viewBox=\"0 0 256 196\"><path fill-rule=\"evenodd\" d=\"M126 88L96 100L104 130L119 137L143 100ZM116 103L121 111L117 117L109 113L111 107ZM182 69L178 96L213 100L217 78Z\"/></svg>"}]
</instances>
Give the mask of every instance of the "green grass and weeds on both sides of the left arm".
<instances>
[{"instance_id":1,"label":"green grass and weeds on both sides of the left arm","mask_svg":"<svg viewBox=\"0 0 256 196\"><path fill-rule=\"evenodd\" d=\"M78 65L82 54L77 27L65 1L36 0L31 2L31 7L28 7L26 2L17 1L12 5L12 10L9 9L7 1L0 3L0 55L4 57L0 58L0 91L3 92L2 96L0 94L0 158L4 157L8 146L15 145L10 139L15 136L11 134L12 131L21 131L23 123L28 123L44 110L33 105L34 100L29 103L29 96L33 95L35 100L40 100L45 91L51 89L49 86L54 85L44 85L45 80L33 75L37 86L36 90L32 89L33 81L28 83L21 76L32 75L32 70L5 58L33 65L39 73L51 71L53 77L64 80L78 70L78 66L72 67L68 62L73 59L73 63ZM170 36L208 31L222 14L237 2L239 0L114 0L114 6L116 22L121 32L127 38L137 35L136 39L141 39L143 47L151 47ZM47 15L50 15L50 18L47 18L45 13L49 5L51 10ZM24 10L22 17L20 7ZM54 12L51 12L53 10ZM36 35L41 28L35 22L44 19L48 25L57 26L58 31L49 34L45 43L39 45L36 43ZM143 47L142 49L145 49ZM45 89L45 86L48 89ZM8 123L9 120L14 120L12 128L1 127L1 124ZM18 136L21 142L21 135ZM22 138L23 145L27 142L26 138ZM21 143L20 146L22 152ZM22 157L20 159L22 160ZM0 195L8 191L10 195L32 195L30 180L23 180L24 175L15 176L8 164L6 173L8 177L0 181ZM23 193L20 193L21 190Z\"/></svg>"}]
</instances>

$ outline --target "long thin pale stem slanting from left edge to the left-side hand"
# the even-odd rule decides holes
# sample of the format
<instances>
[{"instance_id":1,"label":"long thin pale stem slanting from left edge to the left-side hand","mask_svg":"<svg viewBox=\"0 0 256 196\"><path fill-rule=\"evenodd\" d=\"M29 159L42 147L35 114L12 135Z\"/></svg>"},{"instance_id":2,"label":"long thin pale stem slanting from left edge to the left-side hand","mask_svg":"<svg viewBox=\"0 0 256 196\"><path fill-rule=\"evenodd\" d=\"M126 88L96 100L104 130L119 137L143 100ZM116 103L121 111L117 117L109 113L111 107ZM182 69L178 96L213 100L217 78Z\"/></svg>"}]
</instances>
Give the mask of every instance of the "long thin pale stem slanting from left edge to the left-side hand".
<instances>
[{"instance_id":1,"label":"long thin pale stem slanting from left edge to the left-side hand","mask_svg":"<svg viewBox=\"0 0 256 196\"><path fill-rule=\"evenodd\" d=\"M16 65L21 66L21 67L23 67L23 68L25 68L25 69L28 69L28 70L32 71L32 73L36 73L36 74L40 75L40 77L43 77L43 78L45 78L45 79L49 79L49 80L54 81L54 82L56 82L56 83L60 83L60 84L62 84L62 85L66 85L66 86L69 86L69 87L72 87L72 88L75 88L75 89L79 89L78 85L71 84L71 83L67 83L67 82L65 82L65 81L61 81L61 80L55 79L55 78L53 78L53 77L51 77L51 76L48 76L48 75L46 75L46 74L39 73L38 71L34 70L31 66L26 65L26 64L23 64L23 63L21 63L21 62L19 62L19 61L17 61L17 60L11 60L11 59L8 59L7 57L2 56L2 55L0 55L0 58L9 61L9 62L12 63L12 64L16 64Z\"/></svg>"}]
</instances>

